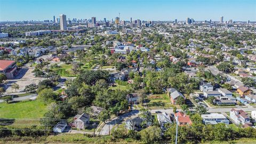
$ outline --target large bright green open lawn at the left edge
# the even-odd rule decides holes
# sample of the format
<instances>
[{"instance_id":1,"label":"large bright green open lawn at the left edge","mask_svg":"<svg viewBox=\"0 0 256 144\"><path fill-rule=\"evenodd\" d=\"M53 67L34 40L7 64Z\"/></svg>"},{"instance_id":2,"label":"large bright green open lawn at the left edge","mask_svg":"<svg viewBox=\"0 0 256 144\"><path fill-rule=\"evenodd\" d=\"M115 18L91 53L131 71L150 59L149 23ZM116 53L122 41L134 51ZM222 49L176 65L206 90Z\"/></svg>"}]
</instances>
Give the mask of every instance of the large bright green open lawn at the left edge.
<instances>
[{"instance_id":1,"label":"large bright green open lawn at the left edge","mask_svg":"<svg viewBox=\"0 0 256 144\"><path fill-rule=\"evenodd\" d=\"M46 112L46 105L39 100L17 103L0 103L1 118L41 118Z\"/></svg>"}]
</instances>

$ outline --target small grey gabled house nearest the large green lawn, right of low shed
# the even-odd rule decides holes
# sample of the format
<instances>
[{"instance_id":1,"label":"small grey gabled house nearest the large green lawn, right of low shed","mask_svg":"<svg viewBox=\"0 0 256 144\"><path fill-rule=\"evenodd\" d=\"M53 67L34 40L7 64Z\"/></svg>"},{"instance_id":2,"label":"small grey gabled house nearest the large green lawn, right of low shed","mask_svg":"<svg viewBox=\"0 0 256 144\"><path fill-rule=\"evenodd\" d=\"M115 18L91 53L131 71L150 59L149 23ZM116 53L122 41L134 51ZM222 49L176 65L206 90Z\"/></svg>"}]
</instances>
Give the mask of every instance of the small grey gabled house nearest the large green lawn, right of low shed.
<instances>
[{"instance_id":1,"label":"small grey gabled house nearest the large green lawn, right of low shed","mask_svg":"<svg viewBox=\"0 0 256 144\"><path fill-rule=\"evenodd\" d=\"M72 126L76 127L77 129L85 129L90 122L90 116L86 113L83 113L82 115L76 115L74 117L74 122Z\"/></svg>"}]
</instances>

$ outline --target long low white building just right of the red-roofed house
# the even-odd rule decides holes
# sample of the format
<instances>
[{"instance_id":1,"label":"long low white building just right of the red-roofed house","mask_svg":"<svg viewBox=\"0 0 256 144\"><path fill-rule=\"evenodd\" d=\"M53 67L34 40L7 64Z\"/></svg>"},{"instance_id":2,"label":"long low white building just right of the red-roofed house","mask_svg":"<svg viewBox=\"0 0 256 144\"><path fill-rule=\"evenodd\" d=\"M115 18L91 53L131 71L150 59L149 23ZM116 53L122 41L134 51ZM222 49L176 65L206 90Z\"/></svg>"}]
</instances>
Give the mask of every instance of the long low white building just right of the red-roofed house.
<instances>
[{"instance_id":1,"label":"long low white building just right of the red-roofed house","mask_svg":"<svg viewBox=\"0 0 256 144\"><path fill-rule=\"evenodd\" d=\"M225 117L222 114L212 113L212 114L201 115L201 117L203 118L203 122L205 124L218 124L218 123L229 124L229 120L227 119L227 117Z\"/></svg>"}]
</instances>

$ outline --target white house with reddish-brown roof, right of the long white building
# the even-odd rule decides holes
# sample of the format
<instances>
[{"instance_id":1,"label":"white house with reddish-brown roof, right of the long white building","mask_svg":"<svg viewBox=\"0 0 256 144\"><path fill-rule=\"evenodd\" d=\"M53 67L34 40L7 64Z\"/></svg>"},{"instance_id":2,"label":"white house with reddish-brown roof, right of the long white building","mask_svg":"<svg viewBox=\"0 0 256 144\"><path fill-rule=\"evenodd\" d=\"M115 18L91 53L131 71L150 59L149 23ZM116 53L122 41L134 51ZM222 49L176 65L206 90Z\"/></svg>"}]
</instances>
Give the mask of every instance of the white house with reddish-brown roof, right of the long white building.
<instances>
[{"instance_id":1,"label":"white house with reddish-brown roof, right of the long white building","mask_svg":"<svg viewBox=\"0 0 256 144\"><path fill-rule=\"evenodd\" d=\"M230 110L229 117L233 119L235 124L249 124L250 116L244 110L236 110L232 108Z\"/></svg>"}]
</instances>

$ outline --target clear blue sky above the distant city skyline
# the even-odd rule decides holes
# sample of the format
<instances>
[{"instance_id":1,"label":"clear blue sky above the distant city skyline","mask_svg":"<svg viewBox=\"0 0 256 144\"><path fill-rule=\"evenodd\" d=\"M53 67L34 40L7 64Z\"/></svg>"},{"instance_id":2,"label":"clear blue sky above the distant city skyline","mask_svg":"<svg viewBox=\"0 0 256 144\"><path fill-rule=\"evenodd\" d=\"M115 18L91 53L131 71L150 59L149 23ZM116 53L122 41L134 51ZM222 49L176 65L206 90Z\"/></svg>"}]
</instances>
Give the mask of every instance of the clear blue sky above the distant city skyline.
<instances>
[{"instance_id":1,"label":"clear blue sky above the distant city skyline","mask_svg":"<svg viewBox=\"0 0 256 144\"><path fill-rule=\"evenodd\" d=\"M0 0L0 21L67 19L256 21L256 0Z\"/></svg>"}]
</instances>

